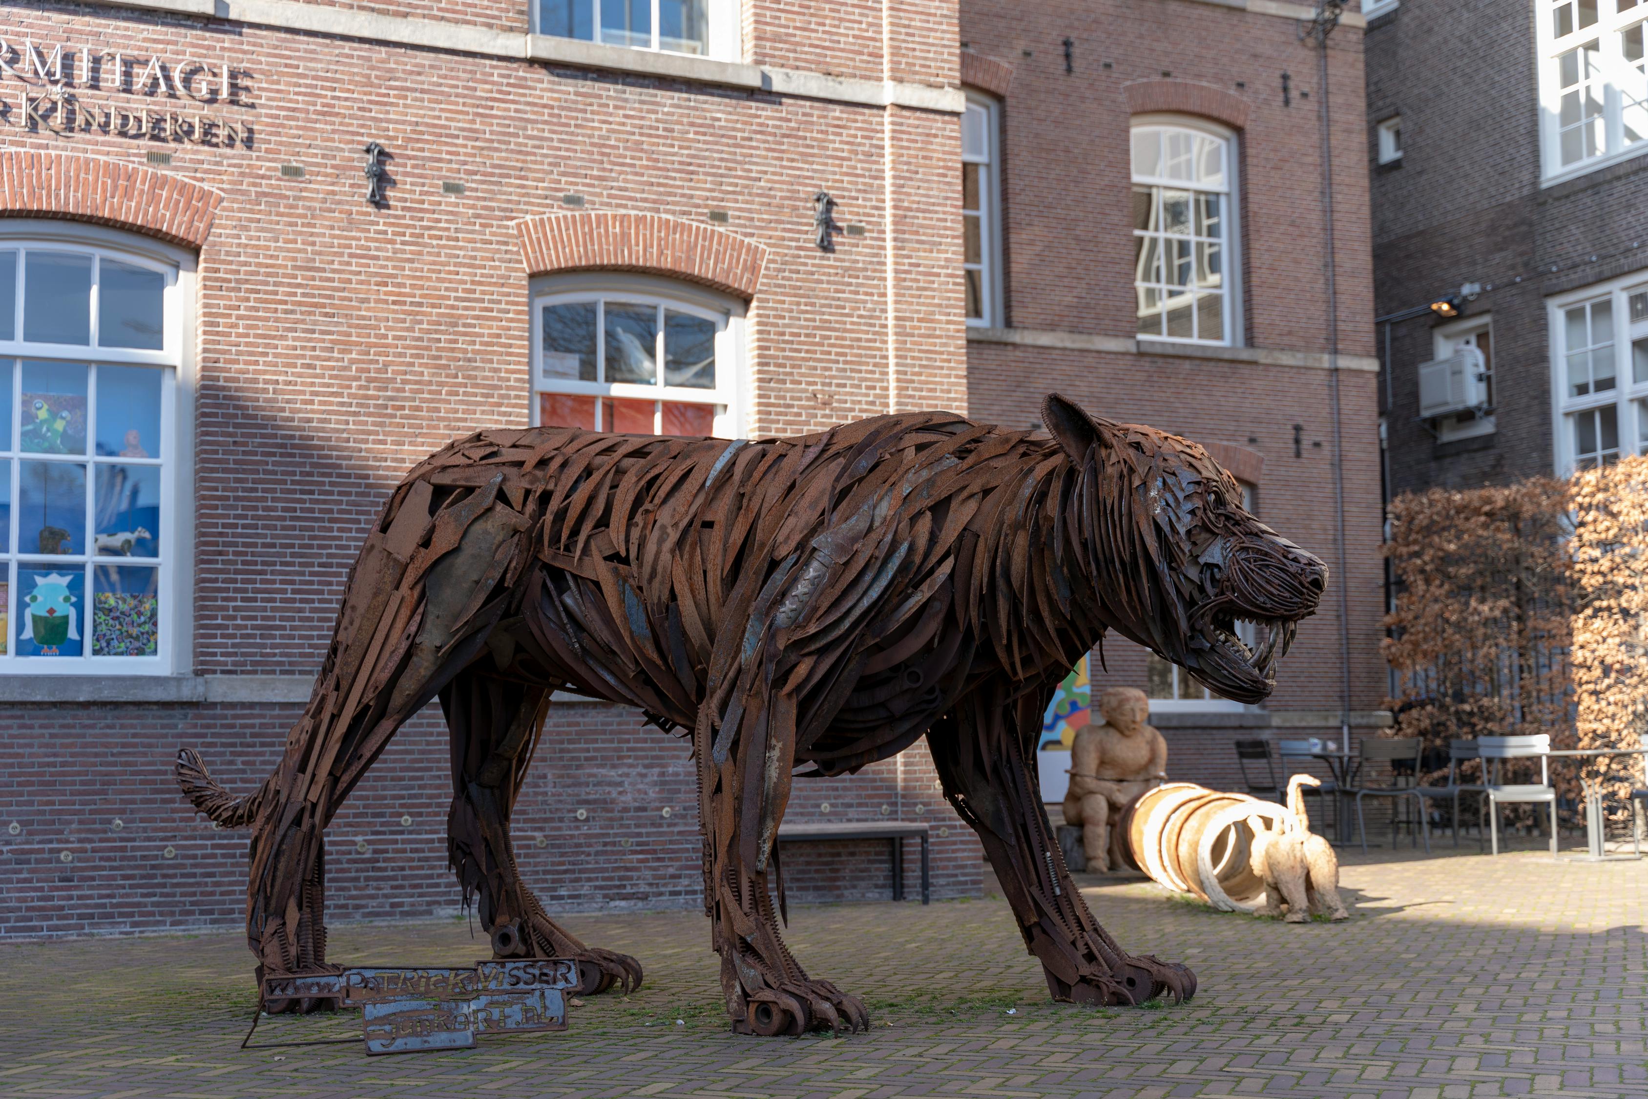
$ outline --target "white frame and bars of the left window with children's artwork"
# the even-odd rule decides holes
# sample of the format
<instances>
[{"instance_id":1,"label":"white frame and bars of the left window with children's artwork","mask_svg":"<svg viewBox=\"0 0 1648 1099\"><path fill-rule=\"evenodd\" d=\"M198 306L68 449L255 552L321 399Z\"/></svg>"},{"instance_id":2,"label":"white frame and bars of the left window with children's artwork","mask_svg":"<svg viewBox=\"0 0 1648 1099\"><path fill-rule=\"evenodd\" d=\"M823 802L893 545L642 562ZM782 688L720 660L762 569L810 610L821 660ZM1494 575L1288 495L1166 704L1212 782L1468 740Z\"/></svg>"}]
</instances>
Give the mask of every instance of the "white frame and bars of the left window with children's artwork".
<instances>
[{"instance_id":1,"label":"white frame and bars of the left window with children's artwork","mask_svg":"<svg viewBox=\"0 0 1648 1099\"><path fill-rule=\"evenodd\" d=\"M81 344L48 344L23 341L23 315L16 311L13 339L0 339L0 359L10 359L13 410L21 402L21 369L28 361L63 361L91 362L109 366L153 366L170 367L168 377L162 382L160 405L160 524L158 540L158 578L160 600L157 605L157 628L160 631L155 656L87 656L92 641L92 585L84 582L82 603L79 610L81 651L82 656L18 656L16 638L21 634L20 613L23 610L23 592L18 585L20 568L51 567L48 557L40 554L23 554L18 545L20 511L21 511L21 461L38 460L35 455L21 451L10 453L12 476L12 529L8 532L10 552L0 557L0 568L5 570L8 606L7 606L7 651L0 656L0 676L173 676L188 672L193 666L193 559L194 559L194 298L196 298L196 260L194 254L171 247L119 229L104 229L73 221L49 219L7 219L0 222L0 250L10 249L49 249L56 252L82 252L105 255L125 264L147 267L168 277L162 298L163 346L155 349L138 348L97 348ZM18 264L18 298L21 303L25 269ZM97 326L97 285L92 285L92 339ZM89 419L96 419L96 390L87 405ZM15 415L16 412L13 412ZM20 445L21 440L15 438ZM97 463L96 445L87 438L87 463ZM130 460L129 460L130 461ZM87 514L94 507L94 484L87 478ZM96 547L86 547L96 549ZM119 565L124 557L97 557L96 554L71 554L71 567L86 568L91 565ZM31 559L23 562L21 559ZM147 564L142 559L135 564Z\"/></svg>"}]
</instances>

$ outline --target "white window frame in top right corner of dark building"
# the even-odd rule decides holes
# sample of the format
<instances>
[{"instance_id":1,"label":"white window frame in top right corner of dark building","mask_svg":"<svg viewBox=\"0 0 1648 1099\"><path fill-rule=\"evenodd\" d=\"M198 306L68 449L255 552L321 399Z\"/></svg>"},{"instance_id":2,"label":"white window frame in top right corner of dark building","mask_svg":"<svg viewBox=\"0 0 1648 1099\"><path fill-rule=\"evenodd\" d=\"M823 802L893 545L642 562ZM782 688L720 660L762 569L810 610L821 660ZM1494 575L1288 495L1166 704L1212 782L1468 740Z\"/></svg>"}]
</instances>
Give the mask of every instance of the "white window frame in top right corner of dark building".
<instances>
[{"instance_id":1,"label":"white window frame in top right corner of dark building","mask_svg":"<svg viewBox=\"0 0 1648 1099\"><path fill-rule=\"evenodd\" d=\"M1561 38L1556 35L1556 12L1564 5L1574 5L1574 30ZM1648 124L1645 137L1630 145L1625 143L1625 97L1636 101L1648 99L1648 76L1636 66L1645 61L1627 61L1622 48L1623 31L1638 23L1648 21L1648 5L1636 3L1623 12L1615 0L1597 0L1597 21L1590 26L1577 26L1577 0L1536 0L1534 3L1534 41L1538 48L1539 69L1539 145L1543 165L1543 186L1551 186L1574 176L1595 171L1605 165L1628 160L1648 153ZM1645 31L1648 33L1648 31ZM1585 43L1597 43L1599 74L1602 86L1602 119L1604 148L1594 157L1562 163L1562 77L1561 58L1569 49ZM1635 87L1635 91L1632 91ZM1645 110L1648 115L1648 110Z\"/></svg>"}]
</instances>

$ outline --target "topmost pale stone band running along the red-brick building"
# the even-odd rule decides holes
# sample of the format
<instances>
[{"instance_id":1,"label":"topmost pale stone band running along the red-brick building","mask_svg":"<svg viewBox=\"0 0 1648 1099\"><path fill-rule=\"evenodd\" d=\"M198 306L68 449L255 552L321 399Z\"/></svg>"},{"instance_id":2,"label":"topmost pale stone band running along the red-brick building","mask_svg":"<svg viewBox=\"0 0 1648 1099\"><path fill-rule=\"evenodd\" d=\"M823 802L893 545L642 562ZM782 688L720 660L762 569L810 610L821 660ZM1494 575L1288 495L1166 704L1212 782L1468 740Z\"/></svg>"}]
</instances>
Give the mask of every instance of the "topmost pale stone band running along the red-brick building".
<instances>
[{"instance_id":1,"label":"topmost pale stone band running along the red-brick building","mask_svg":"<svg viewBox=\"0 0 1648 1099\"><path fill-rule=\"evenodd\" d=\"M229 20L236 23L252 23L259 26L307 31L313 35L339 35L346 38L359 38L363 41L394 43L400 46L450 49L455 53L513 58L521 61L545 61L550 64L613 69L618 72L641 72L664 79L720 84L725 87L747 87L776 96L826 99L844 104L862 104L867 107L913 107L918 110L939 110L944 114L961 114L967 107L967 99L959 87L936 87L931 84L915 84L905 81L864 81L765 64L740 64L735 61L694 58L689 54L626 49L623 46L603 46L600 43L578 41L575 38L524 35L521 31L503 31L475 23L448 23L443 20L420 20L402 15L379 15L376 12L335 8L325 3L307 3L305 0L89 2L99 7L170 12L173 15ZM1190 2L1234 8L1252 15L1272 15L1287 20L1309 21L1313 15L1310 5L1277 3L1276 0ZM1366 28L1368 25L1366 20L1355 12L1346 12L1340 21L1345 26L1355 26L1358 30Z\"/></svg>"}]
</instances>

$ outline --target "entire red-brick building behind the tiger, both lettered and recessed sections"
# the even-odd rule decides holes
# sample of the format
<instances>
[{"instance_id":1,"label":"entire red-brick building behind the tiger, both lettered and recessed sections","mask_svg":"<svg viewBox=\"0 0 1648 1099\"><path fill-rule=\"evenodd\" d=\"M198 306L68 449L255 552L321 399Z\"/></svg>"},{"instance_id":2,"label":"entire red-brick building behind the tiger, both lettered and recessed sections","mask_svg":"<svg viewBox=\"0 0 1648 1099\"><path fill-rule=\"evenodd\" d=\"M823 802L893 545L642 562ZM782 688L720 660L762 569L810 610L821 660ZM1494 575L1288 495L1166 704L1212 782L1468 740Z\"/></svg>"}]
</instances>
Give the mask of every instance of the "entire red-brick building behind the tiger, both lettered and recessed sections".
<instances>
[{"instance_id":1,"label":"entire red-brick building behind the tiger, both lettered and recessed sections","mask_svg":"<svg viewBox=\"0 0 1648 1099\"><path fill-rule=\"evenodd\" d=\"M1200 0L654 0L621 20L590 0L7 8L0 351L18 419L0 455L0 934L241 918L244 837L191 817L173 753L199 748L239 791L269 771L384 491L480 425L766 435L931 407L1028 425L1060 389L1208 440L1261 516L1346 585L1348 615L1330 600L1304 624L1271 707L1162 699L1175 774L1233 781L1241 730L1374 723L1361 130L1335 119L1333 348L1309 15ZM1360 97L1360 33L1348 16L1328 40L1341 104ZM1160 168L1140 232L1200 264L1188 321L1165 262L1142 280L1155 305L1135 290L1134 132L1155 135ZM1193 199L1200 236L1163 214L1185 150L1223 173ZM1137 338L1147 321L1160 339ZM79 636L48 623L25 638L28 595L77 600ZM1162 680L1142 652L1107 657L1106 682ZM335 916L456 906L445 766L432 709L328 830ZM920 745L798 784L789 814L926 819L934 893L979 888L977 844ZM516 837L550 911L700 895L686 748L618 707L557 697ZM784 877L798 900L885 896L883 858L811 845Z\"/></svg>"}]
</instances>

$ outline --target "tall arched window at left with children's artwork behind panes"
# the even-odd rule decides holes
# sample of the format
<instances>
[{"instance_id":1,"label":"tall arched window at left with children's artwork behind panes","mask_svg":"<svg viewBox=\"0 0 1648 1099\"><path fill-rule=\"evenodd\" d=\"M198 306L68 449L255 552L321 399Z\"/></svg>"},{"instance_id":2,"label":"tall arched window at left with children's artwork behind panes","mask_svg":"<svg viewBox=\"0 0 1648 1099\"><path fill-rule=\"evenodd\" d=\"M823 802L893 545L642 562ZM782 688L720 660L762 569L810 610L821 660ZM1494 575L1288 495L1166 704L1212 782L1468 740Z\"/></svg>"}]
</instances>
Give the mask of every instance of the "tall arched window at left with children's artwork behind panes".
<instances>
[{"instance_id":1,"label":"tall arched window at left with children's artwork behind panes","mask_svg":"<svg viewBox=\"0 0 1648 1099\"><path fill-rule=\"evenodd\" d=\"M0 227L0 672L170 672L191 257Z\"/></svg>"}]
</instances>

